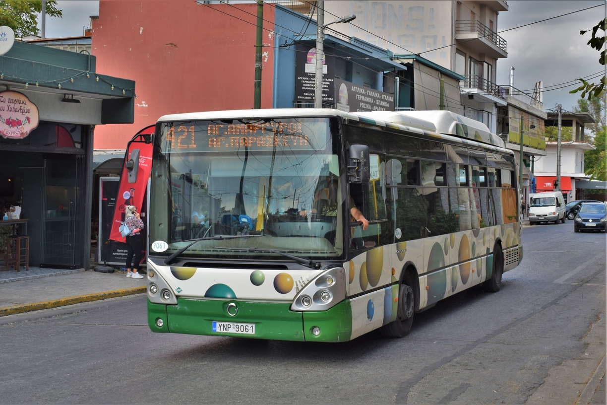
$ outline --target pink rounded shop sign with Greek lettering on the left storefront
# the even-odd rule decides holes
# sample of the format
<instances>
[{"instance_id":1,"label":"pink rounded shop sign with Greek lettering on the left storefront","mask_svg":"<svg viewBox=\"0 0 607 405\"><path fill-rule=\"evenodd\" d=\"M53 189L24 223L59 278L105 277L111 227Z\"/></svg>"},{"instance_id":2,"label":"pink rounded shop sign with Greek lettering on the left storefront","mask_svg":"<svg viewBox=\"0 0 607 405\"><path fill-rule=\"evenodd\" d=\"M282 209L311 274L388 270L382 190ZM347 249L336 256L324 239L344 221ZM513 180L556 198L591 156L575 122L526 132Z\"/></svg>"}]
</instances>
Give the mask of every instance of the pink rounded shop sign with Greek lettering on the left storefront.
<instances>
[{"instance_id":1,"label":"pink rounded shop sign with Greek lettering on the left storefront","mask_svg":"<svg viewBox=\"0 0 607 405\"><path fill-rule=\"evenodd\" d=\"M0 134L23 139L38 126L38 107L19 92L0 92Z\"/></svg>"}]
</instances>

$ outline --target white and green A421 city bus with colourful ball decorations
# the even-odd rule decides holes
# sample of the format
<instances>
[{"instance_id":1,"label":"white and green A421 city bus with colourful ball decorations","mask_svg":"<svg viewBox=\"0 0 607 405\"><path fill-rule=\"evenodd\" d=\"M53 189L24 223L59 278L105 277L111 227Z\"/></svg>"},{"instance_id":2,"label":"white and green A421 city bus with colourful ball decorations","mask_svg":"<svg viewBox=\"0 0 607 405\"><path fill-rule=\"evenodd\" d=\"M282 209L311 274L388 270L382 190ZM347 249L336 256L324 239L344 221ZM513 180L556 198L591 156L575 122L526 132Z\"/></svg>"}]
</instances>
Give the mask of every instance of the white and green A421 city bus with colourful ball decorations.
<instances>
[{"instance_id":1,"label":"white and green A421 city bus with colourful ball decorations","mask_svg":"<svg viewBox=\"0 0 607 405\"><path fill-rule=\"evenodd\" d=\"M152 142L152 332L403 337L523 257L514 154L452 112L165 115Z\"/></svg>"}]
</instances>

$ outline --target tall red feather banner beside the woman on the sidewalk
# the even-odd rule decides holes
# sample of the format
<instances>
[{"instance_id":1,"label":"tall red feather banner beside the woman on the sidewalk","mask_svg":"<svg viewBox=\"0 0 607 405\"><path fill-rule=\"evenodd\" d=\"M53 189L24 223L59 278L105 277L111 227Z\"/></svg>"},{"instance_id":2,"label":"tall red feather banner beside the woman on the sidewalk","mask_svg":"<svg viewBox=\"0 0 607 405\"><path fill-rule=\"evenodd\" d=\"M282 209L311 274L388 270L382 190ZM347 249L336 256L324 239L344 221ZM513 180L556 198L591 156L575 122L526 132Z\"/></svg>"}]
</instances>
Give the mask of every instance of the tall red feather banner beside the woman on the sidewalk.
<instances>
[{"instance_id":1,"label":"tall red feather banner beside the woman on the sidewalk","mask_svg":"<svg viewBox=\"0 0 607 405\"><path fill-rule=\"evenodd\" d=\"M148 178L152 171L151 135L153 133L154 125L148 126L139 131L127 144L110 232L111 240L125 242L118 227L121 222L124 222L124 211L127 205L134 205L141 212Z\"/></svg>"}]
</instances>

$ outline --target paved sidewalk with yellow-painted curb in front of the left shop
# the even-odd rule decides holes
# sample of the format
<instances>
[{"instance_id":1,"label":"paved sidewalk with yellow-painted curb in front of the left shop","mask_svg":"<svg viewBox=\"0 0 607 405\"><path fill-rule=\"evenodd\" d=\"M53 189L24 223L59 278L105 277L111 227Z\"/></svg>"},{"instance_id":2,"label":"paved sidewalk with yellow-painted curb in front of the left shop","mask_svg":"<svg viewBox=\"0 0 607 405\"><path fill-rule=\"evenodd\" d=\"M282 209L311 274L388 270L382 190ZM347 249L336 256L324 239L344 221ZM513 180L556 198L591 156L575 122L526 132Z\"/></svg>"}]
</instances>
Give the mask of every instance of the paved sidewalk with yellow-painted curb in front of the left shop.
<instances>
[{"instance_id":1,"label":"paved sidewalk with yellow-painted curb in front of the left shop","mask_svg":"<svg viewBox=\"0 0 607 405\"><path fill-rule=\"evenodd\" d=\"M145 293L148 278L143 276L127 278L124 271L0 269L0 316Z\"/></svg>"}]
</instances>

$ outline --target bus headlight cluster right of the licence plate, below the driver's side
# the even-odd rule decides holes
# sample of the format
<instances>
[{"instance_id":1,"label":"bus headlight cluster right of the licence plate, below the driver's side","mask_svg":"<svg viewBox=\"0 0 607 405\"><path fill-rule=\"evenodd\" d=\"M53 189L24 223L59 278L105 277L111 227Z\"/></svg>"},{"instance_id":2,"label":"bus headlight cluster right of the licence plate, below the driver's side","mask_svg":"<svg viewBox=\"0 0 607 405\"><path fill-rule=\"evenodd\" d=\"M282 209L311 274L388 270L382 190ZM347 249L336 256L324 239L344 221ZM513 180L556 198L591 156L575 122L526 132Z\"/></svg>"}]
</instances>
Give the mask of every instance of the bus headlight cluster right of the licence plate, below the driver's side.
<instances>
[{"instance_id":1,"label":"bus headlight cluster right of the licence plate, below the driver's side","mask_svg":"<svg viewBox=\"0 0 607 405\"><path fill-rule=\"evenodd\" d=\"M324 311L345 299L345 270L334 267L320 273L295 296L292 311Z\"/></svg>"}]
</instances>

